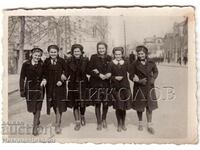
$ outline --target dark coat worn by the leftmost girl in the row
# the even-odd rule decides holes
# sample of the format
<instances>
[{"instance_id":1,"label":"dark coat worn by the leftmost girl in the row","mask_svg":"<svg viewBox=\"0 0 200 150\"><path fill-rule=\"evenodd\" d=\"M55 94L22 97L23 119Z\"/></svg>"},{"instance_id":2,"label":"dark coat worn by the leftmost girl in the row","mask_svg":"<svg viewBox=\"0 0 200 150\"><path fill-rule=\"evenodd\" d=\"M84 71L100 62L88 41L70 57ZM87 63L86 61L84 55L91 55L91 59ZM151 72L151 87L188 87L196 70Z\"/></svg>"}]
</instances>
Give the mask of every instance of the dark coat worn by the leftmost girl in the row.
<instances>
[{"instance_id":1,"label":"dark coat worn by the leftmost girl in the row","mask_svg":"<svg viewBox=\"0 0 200 150\"><path fill-rule=\"evenodd\" d=\"M20 94L26 98L27 110L36 112L41 110L44 89L40 87L43 74L43 62L32 65L31 60L23 63L20 73Z\"/></svg>"}]
</instances>

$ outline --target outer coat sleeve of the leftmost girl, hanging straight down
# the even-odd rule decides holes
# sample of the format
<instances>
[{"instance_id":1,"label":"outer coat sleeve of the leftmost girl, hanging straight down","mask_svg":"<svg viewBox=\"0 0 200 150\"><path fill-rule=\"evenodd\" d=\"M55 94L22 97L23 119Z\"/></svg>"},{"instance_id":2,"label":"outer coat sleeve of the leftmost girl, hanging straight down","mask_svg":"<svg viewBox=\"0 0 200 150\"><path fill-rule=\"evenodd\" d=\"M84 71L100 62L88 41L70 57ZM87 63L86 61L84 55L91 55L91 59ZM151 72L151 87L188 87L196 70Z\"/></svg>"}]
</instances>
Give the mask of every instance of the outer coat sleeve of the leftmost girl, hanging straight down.
<instances>
[{"instance_id":1,"label":"outer coat sleeve of the leftmost girl, hanging straight down","mask_svg":"<svg viewBox=\"0 0 200 150\"><path fill-rule=\"evenodd\" d=\"M25 92L25 79L26 79L26 63L23 63L19 79L20 92Z\"/></svg>"}]
</instances>

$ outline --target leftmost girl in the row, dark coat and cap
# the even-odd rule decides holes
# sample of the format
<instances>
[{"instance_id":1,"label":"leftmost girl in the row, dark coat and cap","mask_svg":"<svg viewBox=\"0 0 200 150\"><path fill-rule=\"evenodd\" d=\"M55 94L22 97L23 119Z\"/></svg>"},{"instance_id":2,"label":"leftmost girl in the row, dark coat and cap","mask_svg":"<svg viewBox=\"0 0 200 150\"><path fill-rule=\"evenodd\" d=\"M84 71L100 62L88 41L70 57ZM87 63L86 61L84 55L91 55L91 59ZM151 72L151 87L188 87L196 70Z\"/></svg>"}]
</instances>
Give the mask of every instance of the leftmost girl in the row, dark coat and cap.
<instances>
[{"instance_id":1,"label":"leftmost girl in the row, dark coat and cap","mask_svg":"<svg viewBox=\"0 0 200 150\"><path fill-rule=\"evenodd\" d=\"M23 63L20 74L20 95L26 98L27 110L33 113L33 135L38 135L40 111L44 97L44 90L40 86L43 73L43 62L40 48L32 49L31 60Z\"/></svg>"}]
</instances>

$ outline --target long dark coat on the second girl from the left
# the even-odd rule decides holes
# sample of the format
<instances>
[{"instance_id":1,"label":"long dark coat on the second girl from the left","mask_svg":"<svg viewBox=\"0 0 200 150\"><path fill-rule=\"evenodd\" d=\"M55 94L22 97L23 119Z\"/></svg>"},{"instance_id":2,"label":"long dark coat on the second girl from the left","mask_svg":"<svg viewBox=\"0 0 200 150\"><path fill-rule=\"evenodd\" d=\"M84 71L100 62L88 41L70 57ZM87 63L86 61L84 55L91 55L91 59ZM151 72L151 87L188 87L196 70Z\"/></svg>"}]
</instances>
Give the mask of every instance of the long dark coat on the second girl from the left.
<instances>
[{"instance_id":1,"label":"long dark coat on the second girl from the left","mask_svg":"<svg viewBox=\"0 0 200 150\"><path fill-rule=\"evenodd\" d=\"M66 103L66 82L61 81L61 75L67 74L67 67L63 58L57 57L56 64L51 63L51 58L47 58L44 62L44 76L47 80L46 97L47 97L47 114L50 114L50 108L58 107L60 112L67 110ZM61 81L62 85L57 86L57 82Z\"/></svg>"}]
</instances>

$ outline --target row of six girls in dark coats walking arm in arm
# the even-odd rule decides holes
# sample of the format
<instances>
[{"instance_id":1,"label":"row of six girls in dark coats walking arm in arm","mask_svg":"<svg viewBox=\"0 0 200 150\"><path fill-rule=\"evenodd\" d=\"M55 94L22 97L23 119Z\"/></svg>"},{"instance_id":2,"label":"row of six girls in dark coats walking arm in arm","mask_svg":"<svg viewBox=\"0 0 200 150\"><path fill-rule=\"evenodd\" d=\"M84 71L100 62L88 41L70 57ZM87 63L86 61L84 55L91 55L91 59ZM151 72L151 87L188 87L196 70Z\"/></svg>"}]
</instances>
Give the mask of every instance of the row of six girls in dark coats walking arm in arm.
<instances>
[{"instance_id":1,"label":"row of six girls in dark coats walking arm in arm","mask_svg":"<svg viewBox=\"0 0 200 150\"><path fill-rule=\"evenodd\" d=\"M107 128L108 108L113 106L118 132L127 130L126 110L133 108L138 115L138 130L143 130L142 114L146 110L147 130L154 133L152 111L157 108L154 81L158 70L145 46L136 48L137 60L131 64L123 57L123 47L113 48L112 58L104 42L97 43L97 54L90 60L83 56L80 44L72 45L72 57L67 60L59 57L58 46L50 45L47 50L49 58L43 62L43 51L33 48L31 59L23 63L20 74L21 96L26 97L27 109L34 115L33 135L38 135L44 91L47 114L52 107L55 112L57 134L61 133L62 113L67 107L73 109L74 130L78 131L86 125L85 111L91 105L95 107L97 130ZM129 79L134 82L133 93Z\"/></svg>"}]
</instances>

